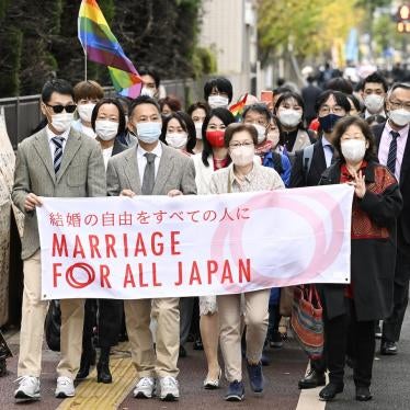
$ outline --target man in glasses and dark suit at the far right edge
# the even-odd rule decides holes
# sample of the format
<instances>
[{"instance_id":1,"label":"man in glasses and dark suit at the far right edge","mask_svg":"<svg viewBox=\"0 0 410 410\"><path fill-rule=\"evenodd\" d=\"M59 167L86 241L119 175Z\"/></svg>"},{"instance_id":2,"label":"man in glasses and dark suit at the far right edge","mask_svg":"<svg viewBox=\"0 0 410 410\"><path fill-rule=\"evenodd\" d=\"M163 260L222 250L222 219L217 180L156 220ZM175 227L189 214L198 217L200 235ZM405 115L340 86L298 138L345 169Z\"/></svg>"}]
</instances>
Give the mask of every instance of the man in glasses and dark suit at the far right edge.
<instances>
[{"instance_id":1,"label":"man in glasses and dark suit at the far right edge","mask_svg":"<svg viewBox=\"0 0 410 410\"><path fill-rule=\"evenodd\" d=\"M397 178L403 208L397 224L394 310L383 323L380 353L397 354L410 280L410 83L392 86L387 95L388 121L373 127L380 163Z\"/></svg>"}]
</instances>

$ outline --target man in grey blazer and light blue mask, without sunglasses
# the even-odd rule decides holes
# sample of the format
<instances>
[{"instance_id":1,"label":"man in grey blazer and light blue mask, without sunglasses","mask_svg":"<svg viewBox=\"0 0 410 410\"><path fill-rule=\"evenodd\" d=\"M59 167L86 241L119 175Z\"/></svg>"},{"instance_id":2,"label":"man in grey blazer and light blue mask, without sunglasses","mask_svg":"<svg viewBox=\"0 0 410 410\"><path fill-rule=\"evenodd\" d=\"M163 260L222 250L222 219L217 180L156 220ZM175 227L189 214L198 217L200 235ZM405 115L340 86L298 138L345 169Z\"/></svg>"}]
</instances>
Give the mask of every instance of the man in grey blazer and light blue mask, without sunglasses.
<instances>
[{"instance_id":1,"label":"man in grey blazer and light blue mask, without sunglasses","mask_svg":"<svg viewBox=\"0 0 410 410\"><path fill-rule=\"evenodd\" d=\"M157 102L147 95L136 99L129 110L129 123L138 145L110 159L109 195L196 194L191 158L159 141L162 119ZM138 377L134 397L151 398L157 377L161 400L178 400L179 298L125 300L124 310ZM151 315L158 323L156 350L149 328Z\"/></svg>"}]
</instances>

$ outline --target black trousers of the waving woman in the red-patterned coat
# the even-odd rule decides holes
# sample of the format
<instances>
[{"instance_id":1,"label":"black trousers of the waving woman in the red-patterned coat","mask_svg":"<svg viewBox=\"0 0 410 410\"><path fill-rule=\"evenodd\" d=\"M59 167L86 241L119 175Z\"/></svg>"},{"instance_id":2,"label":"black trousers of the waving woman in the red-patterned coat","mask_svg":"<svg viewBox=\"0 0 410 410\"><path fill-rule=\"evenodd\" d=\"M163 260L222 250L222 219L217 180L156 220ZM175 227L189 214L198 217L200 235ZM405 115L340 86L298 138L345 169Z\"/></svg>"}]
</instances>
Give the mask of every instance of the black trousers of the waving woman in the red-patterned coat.
<instances>
[{"instance_id":1,"label":"black trousers of the waving woman in the red-patterned coat","mask_svg":"<svg viewBox=\"0 0 410 410\"><path fill-rule=\"evenodd\" d=\"M332 319L323 317L326 363L329 380L343 384L344 362L348 341L352 343L355 355L353 379L356 386L368 387L372 381L373 358L375 354L375 321L357 321L354 301L345 298L345 314ZM350 334L349 334L350 333Z\"/></svg>"}]
</instances>

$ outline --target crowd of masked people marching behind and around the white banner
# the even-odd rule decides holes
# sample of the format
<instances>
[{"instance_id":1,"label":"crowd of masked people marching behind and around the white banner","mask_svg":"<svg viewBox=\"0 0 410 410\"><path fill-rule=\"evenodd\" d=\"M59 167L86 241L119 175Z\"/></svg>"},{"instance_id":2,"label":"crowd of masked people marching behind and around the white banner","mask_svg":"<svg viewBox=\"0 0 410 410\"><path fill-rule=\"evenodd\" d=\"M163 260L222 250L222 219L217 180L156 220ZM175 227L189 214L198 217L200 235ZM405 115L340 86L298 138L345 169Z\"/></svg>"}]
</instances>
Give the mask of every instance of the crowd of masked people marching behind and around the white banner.
<instances>
[{"instance_id":1,"label":"crowd of masked people marching behind and around the white banner","mask_svg":"<svg viewBox=\"0 0 410 410\"><path fill-rule=\"evenodd\" d=\"M310 361L298 386L324 386L319 397L331 400L343 391L349 364L356 399L369 400L376 337L381 338L381 354L398 353L408 304L410 83L389 86L374 72L358 89L343 78L332 78L320 89L308 78L301 93L285 83L269 103L248 95L238 118L229 111L234 90L226 78L208 80L204 100L183 111L176 96L159 98L155 70L140 73L141 95L133 101L104 98L91 80L73 88L61 79L47 81L41 101L46 119L19 145L12 201L25 223L15 398L41 397L48 305L41 298L35 212L42 197L173 197L348 183L354 186L351 283L317 285L323 305L323 355ZM280 328L286 332L280 310L286 294L274 288L124 303L64 299L55 396L75 396L75 380L88 377L95 362L94 329L99 383L112 383L111 348L118 338L128 338L138 377L136 398L179 399L178 361L186 355L189 340L206 357L204 389L219 388L224 373L225 399L241 401L243 358L251 390L262 392L264 349L282 346Z\"/></svg>"}]
</instances>

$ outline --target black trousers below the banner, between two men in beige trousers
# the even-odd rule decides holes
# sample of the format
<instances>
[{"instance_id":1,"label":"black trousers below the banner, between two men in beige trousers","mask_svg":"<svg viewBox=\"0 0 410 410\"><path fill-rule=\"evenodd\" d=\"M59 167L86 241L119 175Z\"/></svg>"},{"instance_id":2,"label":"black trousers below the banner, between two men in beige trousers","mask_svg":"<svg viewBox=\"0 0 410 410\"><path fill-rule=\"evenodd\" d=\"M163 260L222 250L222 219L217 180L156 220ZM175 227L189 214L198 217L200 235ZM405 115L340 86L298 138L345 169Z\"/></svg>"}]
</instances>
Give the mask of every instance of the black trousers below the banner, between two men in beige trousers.
<instances>
[{"instance_id":1,"label":"black trousers below the banner, between two men in beige trousers","mask_svg":"<svg viewBox=\"0 0 410 410\"><path fill-rule=\"evenodd\" d=\"M82 350L92 348L93 328L96 324L100 348L111 348L118 342L123 314L123 300L87 299L84 307L84 327Z\"/></svg>"}]
</instances>

